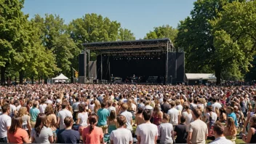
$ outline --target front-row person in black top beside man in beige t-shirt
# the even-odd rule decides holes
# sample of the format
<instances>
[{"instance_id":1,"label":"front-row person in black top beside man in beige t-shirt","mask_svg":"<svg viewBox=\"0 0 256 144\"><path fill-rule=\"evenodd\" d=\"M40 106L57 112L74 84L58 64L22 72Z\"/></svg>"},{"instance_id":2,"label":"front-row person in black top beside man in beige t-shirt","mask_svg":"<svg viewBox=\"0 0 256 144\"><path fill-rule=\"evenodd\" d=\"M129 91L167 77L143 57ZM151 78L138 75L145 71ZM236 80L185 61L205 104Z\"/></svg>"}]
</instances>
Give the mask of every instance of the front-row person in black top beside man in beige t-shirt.
<instances>
[{"instance_id":1,"label":"front-row person in black top beside man in beige t-shirt","mask_svg":"<svg viewBox=\"0 0 256 144\"><path fill-rule=\"evenodd\" d=\"M180 116L180 124L178 124L174 130L174 136L177 136L175 143L187 143L188 130L185 121L185 116Z\"/></svg>"}]
</instances>

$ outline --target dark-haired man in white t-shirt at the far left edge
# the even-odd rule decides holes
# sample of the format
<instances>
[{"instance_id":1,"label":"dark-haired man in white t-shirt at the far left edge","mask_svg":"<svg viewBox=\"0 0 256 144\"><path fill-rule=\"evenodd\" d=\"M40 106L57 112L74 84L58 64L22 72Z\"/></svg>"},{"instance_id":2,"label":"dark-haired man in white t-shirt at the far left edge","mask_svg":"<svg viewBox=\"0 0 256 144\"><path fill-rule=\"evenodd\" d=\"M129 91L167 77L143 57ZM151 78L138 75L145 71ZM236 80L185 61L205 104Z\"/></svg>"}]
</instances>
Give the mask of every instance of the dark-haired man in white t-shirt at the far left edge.
<instances>
[{"instance_id":1,"label":"dark-haired man in white t-shirt at the far left edge","mask_svg":"<svg viewBox=\"0 0 256 144\"><path fill-rule=\"evenodd\" d=\"M9 104L3 105L1 110L3 114L0 116L0 143L7 143L7 131L12 123Z\"/></svg>"}]
</instances>

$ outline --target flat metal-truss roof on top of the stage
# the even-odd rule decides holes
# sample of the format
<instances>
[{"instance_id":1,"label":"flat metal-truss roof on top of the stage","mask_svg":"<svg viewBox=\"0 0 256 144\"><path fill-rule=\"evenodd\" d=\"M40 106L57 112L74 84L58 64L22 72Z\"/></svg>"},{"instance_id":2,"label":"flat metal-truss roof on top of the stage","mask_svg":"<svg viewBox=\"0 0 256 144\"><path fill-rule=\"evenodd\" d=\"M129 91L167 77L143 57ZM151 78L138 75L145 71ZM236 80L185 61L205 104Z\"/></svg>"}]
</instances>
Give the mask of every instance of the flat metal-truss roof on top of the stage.
<instances>
[{"instance_id":1,"label":"flat metal-truss roof on top of the stage","mask_svg":"<svg viewBox=\"0 0 256 144\"><path fill-rule=\"evenodd\" d=\"M99 53L167 52L167 45L169 49L174 49L172 41L168 38L83 44L85 49Z\"/></svg>"}]
</instances>

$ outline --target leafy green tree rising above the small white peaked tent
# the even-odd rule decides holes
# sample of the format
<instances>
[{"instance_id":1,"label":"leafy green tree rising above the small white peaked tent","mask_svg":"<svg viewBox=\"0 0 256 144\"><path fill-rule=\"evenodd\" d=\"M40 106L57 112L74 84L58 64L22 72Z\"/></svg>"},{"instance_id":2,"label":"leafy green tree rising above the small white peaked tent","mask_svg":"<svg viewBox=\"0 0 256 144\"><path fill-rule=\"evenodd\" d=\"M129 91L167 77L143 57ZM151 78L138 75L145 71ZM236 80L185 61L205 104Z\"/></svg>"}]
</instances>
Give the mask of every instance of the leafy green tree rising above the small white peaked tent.
<instances>
[{"instance_id":1,"label":"leafy green tree rising above the small white peaked tent","mask_svg":"<svg viewBox=\"0 0 256 144\"><path fill-rule=\"evenodd\" d=\"M62 72L71 76L71 60L79 49L71 39L64 20L59 15L45 15L45 18L36 15L33 21L41 28L40 37L43 46L55 56L57 64L55 74Z\"/></svg>"}]
</instances>

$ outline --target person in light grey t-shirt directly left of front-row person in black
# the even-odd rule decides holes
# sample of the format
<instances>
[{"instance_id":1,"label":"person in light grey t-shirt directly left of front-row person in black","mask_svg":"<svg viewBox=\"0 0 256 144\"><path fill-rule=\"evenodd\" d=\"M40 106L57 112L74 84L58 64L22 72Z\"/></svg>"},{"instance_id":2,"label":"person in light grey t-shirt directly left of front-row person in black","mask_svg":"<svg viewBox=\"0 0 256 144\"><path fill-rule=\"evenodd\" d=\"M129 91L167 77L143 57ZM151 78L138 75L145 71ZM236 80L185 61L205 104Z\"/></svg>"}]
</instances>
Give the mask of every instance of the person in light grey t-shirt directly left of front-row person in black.
<instances>
[{"instance_id":1,"label":"person in light grey t-shirt directly left of front-row person in black","mask_svg":"<svg viewBox=\"0 0 256 144\"><path fill-rule=\"evenodd\" d=\"M159 125L159 140L160 143L172 144L174 139L174 131L172 124L169 123L169 115L167 113L163 114L163 119Z\"/></svg>"}]
</instances>

